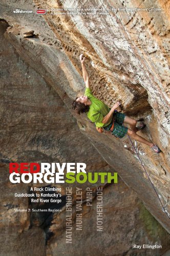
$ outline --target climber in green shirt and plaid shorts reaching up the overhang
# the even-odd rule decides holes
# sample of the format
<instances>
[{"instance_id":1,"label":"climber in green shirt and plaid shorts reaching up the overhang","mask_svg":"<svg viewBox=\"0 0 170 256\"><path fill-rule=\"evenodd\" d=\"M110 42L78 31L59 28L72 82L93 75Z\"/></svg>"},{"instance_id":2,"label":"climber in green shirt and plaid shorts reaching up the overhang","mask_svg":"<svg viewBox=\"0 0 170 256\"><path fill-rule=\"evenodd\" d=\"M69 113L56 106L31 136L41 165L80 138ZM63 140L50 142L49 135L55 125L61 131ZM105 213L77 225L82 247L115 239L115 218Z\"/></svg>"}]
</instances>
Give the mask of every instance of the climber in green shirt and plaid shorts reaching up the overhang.
<instances>
[{"instance_id":1,"label":"climber in green shirt and plaid shorts reaching up the overhang","mask_svg":"<svg viewBox=\"0 0 170 256\"><path fill-rule=\"evenodd\" d=\"M118 138L123 138L128 134L132 139L144 143L150 146L154 152L160 153L161 150L156 144L149 142L136 134L138 131L144 129L146 126L144 123L140 123L138 127L136 127L137 121L135 119L126 116L123 113L116 112L116 109L120 105L119 101L117 101L110 109L108 105L93 96L90 89L89 74L84 59L85 57L80 54L82 74L84 82L86 83L86 90L83 96L77 97L73 101L72 108L78 114L86 113L88 118L95 123L99 133L102 133L104 130L109 131L112 135ZM123 124L129 124L130 129Z\"/></svg>"}]
</instances>

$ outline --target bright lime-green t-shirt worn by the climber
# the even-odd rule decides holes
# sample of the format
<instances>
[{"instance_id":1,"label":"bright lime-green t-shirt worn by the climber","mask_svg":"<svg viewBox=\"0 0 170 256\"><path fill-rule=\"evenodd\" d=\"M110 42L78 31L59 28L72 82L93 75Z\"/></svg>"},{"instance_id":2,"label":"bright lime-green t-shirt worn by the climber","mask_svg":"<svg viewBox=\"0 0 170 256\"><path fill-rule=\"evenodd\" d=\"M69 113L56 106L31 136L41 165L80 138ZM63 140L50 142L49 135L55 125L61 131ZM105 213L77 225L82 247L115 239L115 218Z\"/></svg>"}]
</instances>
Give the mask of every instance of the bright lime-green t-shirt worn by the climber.
<instances>
[{"instance_id":1,"label":"bright lime-green t-shirt worn by the climber","mask_svg":"<svg viewBox=\"0 0 170 256\"><path fill-rule=\"evenodd\" d=\"M101 100L95 98L89 88L86 88L84 95L88 96L92 104L90 105L90 110L87 112L88 118L96 124L96 127L104 127L111 123L102 123L103 117L106 116L110 109L109 106L104 104Z\"/></svg>"}]
</instances>

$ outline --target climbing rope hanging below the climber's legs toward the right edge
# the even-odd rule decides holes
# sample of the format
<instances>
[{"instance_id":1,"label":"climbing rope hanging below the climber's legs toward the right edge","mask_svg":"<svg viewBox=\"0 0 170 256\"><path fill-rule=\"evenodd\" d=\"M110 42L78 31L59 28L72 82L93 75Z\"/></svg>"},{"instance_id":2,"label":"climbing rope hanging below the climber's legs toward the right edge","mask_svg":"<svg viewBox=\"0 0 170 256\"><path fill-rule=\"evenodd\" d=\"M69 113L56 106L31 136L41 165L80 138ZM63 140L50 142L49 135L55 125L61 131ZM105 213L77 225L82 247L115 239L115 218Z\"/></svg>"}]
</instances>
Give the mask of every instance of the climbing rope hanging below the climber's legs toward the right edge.
<instances>
[{"instance_id":1,"label":"climbing rope hanging below the climber's legs toward the right edge","mask_svg":"<svg viewBox=\"0 0 170 256\"><path fill-rule=\"evenodd\" d=\"M147 172L146 172L146 169L145 169L145 167L144 167L144 164L142 163L142 161L141 161L141 159L140 159L140 157L139 157L136 140L135 140L135 146L134 146L134 144L133 144L133 142L132 142L132 140L131 140L131 138L130 138L129 135L128 135L128 137L129 137L129 139L130 139L130 141L131 141L131 143L132 143L132 146L133 146L133 148L134 148L135 154L138 156L138 159L139 159L139 161L140 161L140 163L141 163L141 165L142 165L142 167L143 167L143 169L144 169L144 172L145 172L145 174L146 174L148 180L151 182L151 185L152 185L152 187L153 187L154 190L155 190L155 193L156 193L156 195L157 195L157 197L158 197L158 199L159 199L159 202L160 202L160 204L161 204L161 206L162 206L162 211L165 212L165 214L167 215L168 219L170 220L170 214L169 214L168 211L166 210L166 205L167 205L167 203L168 203L169 197L168 197L168 199L167 199L166 205L163 206L163 204L162 204L162 202L161 202L161 200L160 200L160 198L159 198L159 195L158 195L158 193L157 193L157 191L156 191L156 189L155 189L155 186L154 186L154 184L152 183L150 177L148 176L148 174L147 174Z\"/></svg>"}]
</instances>

